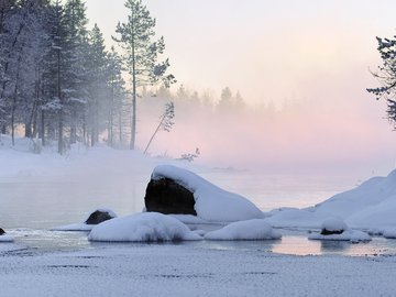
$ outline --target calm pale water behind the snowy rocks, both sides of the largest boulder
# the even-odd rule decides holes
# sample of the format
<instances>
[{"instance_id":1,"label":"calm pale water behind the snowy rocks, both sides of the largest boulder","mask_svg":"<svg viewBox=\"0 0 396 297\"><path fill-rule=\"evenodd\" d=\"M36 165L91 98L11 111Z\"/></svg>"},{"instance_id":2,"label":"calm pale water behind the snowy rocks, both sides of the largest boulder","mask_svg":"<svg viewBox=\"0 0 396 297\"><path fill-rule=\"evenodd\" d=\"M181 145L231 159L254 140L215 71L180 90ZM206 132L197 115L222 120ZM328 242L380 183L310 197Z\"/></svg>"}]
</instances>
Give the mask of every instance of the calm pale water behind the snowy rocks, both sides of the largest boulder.
<instances>
[{"instance_id":1,"label":"calm pale water behind the snowy rocks, both sides of the largest boulder","mask_svg":"<svg viewBox=\"0 0 396 297\"><path fill-rule=\"evenodd\" d=\"M256 175L211 170L201 174L213 184L252 200L263 211L304 208L353 187L344 178ZM84 221L96 208L119 216L142 211L150 174L86 177L0 177L0 227L50 229Z\"/></svg>"}]
</instances>

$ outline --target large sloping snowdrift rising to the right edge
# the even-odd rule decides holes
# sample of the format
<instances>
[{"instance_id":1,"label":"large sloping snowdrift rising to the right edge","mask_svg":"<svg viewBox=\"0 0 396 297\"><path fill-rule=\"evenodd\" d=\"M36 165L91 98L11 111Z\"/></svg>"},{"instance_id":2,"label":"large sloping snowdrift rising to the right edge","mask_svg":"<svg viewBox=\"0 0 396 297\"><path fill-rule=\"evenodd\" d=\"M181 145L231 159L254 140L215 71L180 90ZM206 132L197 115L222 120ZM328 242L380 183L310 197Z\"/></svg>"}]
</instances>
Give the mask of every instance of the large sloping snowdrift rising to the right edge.
<instances>
[{"instance_id":1,"label":"large sloping snowdrift rising to the right edge","mask_svg":"<svg viewBox=\"0 0 396 297\"><path fill-rule=\"evenodd\" d=\"M311 208L272 211L266 221L275 227L318 229L322 221L340 218L351 228L383 233L396 228L395 213L396 170L387 177L373 177Z\"/></svg>"}]
</instances>

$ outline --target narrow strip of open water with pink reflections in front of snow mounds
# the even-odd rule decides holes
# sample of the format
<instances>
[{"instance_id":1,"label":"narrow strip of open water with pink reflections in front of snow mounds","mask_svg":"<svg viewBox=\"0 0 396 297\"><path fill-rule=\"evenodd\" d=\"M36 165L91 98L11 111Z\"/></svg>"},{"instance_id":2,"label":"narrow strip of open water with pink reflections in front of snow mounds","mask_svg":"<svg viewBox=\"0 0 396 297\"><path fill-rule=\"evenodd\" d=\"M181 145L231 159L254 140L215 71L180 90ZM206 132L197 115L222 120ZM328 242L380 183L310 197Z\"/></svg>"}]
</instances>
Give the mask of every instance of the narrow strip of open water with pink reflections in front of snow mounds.
<instances>
[{"instance_id":1,"label":"narrow strip of open water with pink reflections in front of snow mounds","mask_svg":"<svg viewBox=\"0 0 396 297\"><path fill-rule=\"evenodd\" d=\"M19 229L9 232L15 239L15 246L28 249L34 253L70 251L100 248L130 248L150 245L182 245L189 249L243 251L246 253L277 253L289 255L349 255L375 256L396 254L396 240L373 238L367 243L350 243L345 241L308 240L304 232L285 231L282 240L264 241L193 241L193 242L162 242L162 243L106 243L89 242L87 232L57 232L47 230Z\"/></svg>"}]
</instances>

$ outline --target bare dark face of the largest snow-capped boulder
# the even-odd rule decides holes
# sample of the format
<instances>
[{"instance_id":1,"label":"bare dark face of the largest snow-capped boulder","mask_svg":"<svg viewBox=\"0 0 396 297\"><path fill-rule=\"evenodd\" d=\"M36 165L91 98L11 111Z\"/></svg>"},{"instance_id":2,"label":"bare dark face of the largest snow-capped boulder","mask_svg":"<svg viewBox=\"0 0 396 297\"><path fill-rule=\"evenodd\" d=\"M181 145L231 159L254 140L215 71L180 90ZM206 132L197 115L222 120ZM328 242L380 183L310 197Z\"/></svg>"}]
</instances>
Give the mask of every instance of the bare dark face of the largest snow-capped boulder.
<instances>
[{"instance_id":1,"label":"bare dark face of the largest snow-capped boulder","mask_svg":"<svg viewBox=\"0 0 396 297\"><path fill-rule=\"evenodd\" d=\"M197 216L193 193L170 178L150 180L144 202L146 211Z\"/></svg>"}]
</instances>

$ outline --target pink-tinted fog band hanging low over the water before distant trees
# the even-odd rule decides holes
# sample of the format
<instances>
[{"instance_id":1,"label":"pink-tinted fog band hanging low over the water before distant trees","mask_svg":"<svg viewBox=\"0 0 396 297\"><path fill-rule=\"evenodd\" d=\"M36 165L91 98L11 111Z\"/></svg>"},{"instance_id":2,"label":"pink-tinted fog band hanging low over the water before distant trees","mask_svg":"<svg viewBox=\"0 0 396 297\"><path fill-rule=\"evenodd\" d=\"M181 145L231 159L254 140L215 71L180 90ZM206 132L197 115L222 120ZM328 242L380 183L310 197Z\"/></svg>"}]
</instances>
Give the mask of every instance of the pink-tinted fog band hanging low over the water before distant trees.
<instances>
[{"instance_id":1,"label":"pink-tinted fog band hanging low over the water before distant trees","mask_svg":"<svg viewBox=\"0 0 396 297\"><path fill-rule=\"evenodd\" d=\"M138 145L145 147L166 98L139 102ZM280 106L220 110L191 99L175 101L175 125L161 131L148 153L179 157L199 147L197 163L267 173L387 174L396 138L375 100L285 100Z\"/></svg>"}]
</instances>

